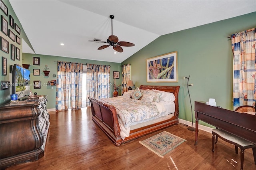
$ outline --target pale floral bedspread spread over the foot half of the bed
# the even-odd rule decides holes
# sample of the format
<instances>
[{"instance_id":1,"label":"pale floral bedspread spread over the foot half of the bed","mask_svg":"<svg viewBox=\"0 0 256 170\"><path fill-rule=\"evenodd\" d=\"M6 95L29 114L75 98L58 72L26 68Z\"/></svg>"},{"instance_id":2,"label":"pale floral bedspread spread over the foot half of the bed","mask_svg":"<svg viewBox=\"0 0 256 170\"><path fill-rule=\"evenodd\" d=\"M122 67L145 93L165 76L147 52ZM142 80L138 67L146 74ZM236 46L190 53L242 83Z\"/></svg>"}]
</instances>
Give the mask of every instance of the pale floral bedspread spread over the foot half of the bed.
<instances>
[{"instance_id":1,"label":"pale floral bedspread spread over the foot half of the bed","mask_svg":"<svg viewBox=\"0 0 256 170\"><path fill-rule=\"evenodd\" d=\"M152 102L127 99L122 96L98 99L98 101L113 105L126 128L133 122L150 119L160 114L156 104Z\"/></svg>"}]
</instances>

